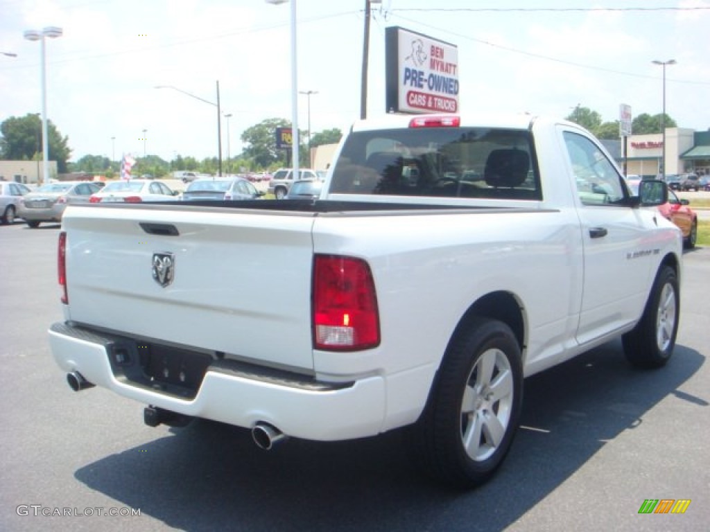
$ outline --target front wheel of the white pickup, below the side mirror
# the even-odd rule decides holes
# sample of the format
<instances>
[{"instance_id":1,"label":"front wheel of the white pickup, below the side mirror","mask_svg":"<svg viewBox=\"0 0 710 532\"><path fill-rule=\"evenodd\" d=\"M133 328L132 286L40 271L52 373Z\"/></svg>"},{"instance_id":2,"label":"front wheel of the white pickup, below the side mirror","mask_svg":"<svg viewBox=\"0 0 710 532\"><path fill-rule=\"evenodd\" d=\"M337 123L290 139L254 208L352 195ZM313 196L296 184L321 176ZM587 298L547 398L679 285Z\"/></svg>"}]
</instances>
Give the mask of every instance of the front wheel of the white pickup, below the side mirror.
<instances>
[{"instance_id":1,"label":"front wheel of the white pickup, below the side mirror","mask_svg":"<svg viewBox=\"0 0 710 532\"><path fill-rule=\"evenodd\" d=\"M673 354L678 333L680 292L678 277L670 266L662 266L653 282L640 321L623 336L623 350L635 367L666 365Z\"/></svg>"}]
</instances>

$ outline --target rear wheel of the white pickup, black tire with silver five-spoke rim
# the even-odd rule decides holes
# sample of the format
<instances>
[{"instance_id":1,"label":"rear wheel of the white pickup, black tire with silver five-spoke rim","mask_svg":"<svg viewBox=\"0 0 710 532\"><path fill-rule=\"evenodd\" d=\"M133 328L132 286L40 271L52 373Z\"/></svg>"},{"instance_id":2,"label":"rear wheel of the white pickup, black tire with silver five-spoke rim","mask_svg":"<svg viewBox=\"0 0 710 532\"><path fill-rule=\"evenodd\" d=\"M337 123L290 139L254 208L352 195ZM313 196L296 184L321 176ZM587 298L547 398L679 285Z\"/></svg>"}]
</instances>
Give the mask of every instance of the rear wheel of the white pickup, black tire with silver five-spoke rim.
<instances>
[{"instance_id":1,"label":"rear wheel of the white pickup, black tire with silver five-spoke rim","mask_svg":"<svg viewBox=\"0 0 710 532\"><path fill-rule=\"evenodd\" d=\"M413 458L440 482L479 486L506 458L522 404L513 331L500 321L471 319L449 343L425 411L405 433Z\"/></svg>"}]
</instances>

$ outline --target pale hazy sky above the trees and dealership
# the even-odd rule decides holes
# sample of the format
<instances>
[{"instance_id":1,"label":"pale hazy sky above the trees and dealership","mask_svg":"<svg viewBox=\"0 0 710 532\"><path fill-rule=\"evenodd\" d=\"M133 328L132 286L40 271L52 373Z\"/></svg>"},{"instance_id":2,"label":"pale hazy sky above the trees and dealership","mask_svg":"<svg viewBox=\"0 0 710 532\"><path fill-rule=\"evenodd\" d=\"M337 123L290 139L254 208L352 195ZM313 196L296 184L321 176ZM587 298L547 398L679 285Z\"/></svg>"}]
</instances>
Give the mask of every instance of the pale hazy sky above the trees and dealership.
<instances>
[{"instance_id":1,"label":"pale hazy sky above the trees and dealership","mask_svg":"<svg viewBox=\"0 0 710 532\"><path fill-rule=\"evenodd\" d=\"M300 131L346 131L360 116L365 0L296 1ZM710 0L382 0L371 4L368 116L385 109L385 30L458 47L461 113L619 116L662 111L710 129ZM0 122L47 111L71 160L241 153L246 128L292 116L291 5L266 0L0 0ZM17 57L1 55L13 53ZM174 87L162 88L155 87ZM185 92L192 94L188 96ZM195 97L193 97L195 96ZM200 99L204 101L200 101ZM310 104L310 105L309 105ZM310 112L309 112L310 108Z\"/></svg>"}]
</instances>

